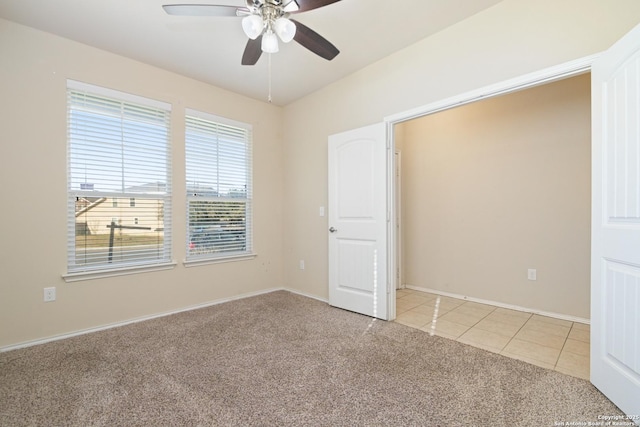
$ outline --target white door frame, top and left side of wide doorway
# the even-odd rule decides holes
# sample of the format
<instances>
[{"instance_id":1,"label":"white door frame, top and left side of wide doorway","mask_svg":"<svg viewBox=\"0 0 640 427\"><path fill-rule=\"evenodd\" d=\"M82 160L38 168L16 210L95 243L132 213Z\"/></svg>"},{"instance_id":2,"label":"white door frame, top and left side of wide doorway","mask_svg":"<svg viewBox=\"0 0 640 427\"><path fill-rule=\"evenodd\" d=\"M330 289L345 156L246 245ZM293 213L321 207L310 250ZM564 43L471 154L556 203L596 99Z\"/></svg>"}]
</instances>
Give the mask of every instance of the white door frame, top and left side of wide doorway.
<instances>
[{"instance_id":1,"label":"white door frame, top and left side of wide doorway","mask_svg":"<svg viewBox=\"0 0 640 427\"><path fill-rule=\"evenodd\" d=\"M586 56L574 61L565 62L563 64L559 64L553 67L545 68L540 71L536 71L533 73L525 74L523 76L519 76L513 79L505 80L493 85L485 86L476 90L472 90L470 92L462 93L459 95L455 95L450 98L446 98L440 101L436 101L430 104L426 104L412 110L404 111L401 113L397 113L391 116L387 116L384 118L384 122L386 123L387 128L387 147L389 148L388 152L391 153L389 155L388 167L387 167L387 189L389 191L388 194L388 202L389 202L389 214L390 214L390 224L388 227L388 248L387 248L387 256L388 256L388 280L390 283L390 292L388 293L388 302L387 307L389 314L389 320L394 320L396 318L396 287L397 287L397 279L395 271L398 268L396 265L396 260L398 259L397 252L399 236L397 235L397 206L396 206L396 175L395 175L395 161L394 161L394 153L396 150L395 143L395 125L417 119L419 117L427 116L430 114L435 114L440 111L449 110L452 108L460 107L463 105L471 104L476 101L481 101L484 99L494 98L500 95L506 95L508 93L517 92L524 89L529 89L535 86L544 85L547 83L552 83L558 80L566 79L569 77L577 76L580 74L588 73L591 71L591 66L593 62L600 57L600 53ZM592 243L593 244L593 243ZM589 284L591 287L591 284Z\"/></svg>"}]
</instances>

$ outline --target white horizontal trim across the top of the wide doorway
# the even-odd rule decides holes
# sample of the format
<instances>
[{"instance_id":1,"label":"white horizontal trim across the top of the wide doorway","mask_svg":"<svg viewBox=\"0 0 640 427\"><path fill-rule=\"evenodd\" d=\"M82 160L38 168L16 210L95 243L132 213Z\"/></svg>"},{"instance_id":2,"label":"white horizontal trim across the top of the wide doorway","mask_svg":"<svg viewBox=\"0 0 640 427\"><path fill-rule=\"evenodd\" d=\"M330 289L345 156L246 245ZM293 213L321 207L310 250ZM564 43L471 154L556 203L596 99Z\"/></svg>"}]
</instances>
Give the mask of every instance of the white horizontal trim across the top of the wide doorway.
<instances>
[{"instance_id":1,"label":"white horizontal trim across the top of the wide doorway","mask_svg":"<svg viewBox=\"0 0 640 427\"><path fill-rule=\"evenodd\" d=\"M412 110L394 114L385 117L385 122L390 124L401 123L407 120L426 116L428 114L437 113L439 111L448 110L450 108L459 107L461 105L470 104L482 99L493 98L499 95L528 89L557 80L562 80L578 74L586 73L591 70L591 64L598 58L600 54L586 56L574 61L565 62L564 64L545 68L534 73L525 74L520 77L505 80L500 83L485 86L480 89L472 90L451 98L436 101Z\"/></svg>"}]
</instances>

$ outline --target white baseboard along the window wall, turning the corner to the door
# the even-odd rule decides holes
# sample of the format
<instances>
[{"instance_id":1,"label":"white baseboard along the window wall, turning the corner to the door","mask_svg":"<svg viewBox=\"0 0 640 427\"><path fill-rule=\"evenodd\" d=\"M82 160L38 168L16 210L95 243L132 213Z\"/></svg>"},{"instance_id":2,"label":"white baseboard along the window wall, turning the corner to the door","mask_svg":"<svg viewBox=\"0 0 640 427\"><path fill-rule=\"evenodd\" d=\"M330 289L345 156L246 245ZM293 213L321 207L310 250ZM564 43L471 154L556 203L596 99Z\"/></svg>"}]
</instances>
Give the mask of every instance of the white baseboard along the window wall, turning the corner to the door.
<instances>
[{"instance_id":1,"label":"white baseboard along the window wall, turning the corner to the door","mask_svg":"<svg viewBox=\"0 0 640 427\"><path fill-rule=\"evenodd\" d=\"M325 303L328 302L327 300L325 300L323 298L319 298L319 297L316 297L314 295L305 294L305 293L302 293L302 292L299 292L299 291L296 291L296 290L293 290L293 289L288 289L288 288L285 288L285 287L270 288L270 289L264 289L264 290L261 290L261 291L249 292L249 293L246 293L246 294L235 295L235 296L232 296L232 297L220 298L220 299L217 299L217 300L208 301L208 302L205 302L205 303L202 303L202 304L196 304L196 305L188 306L188 307L185 307L185 308L180 308L180 309L177 309L177 310L170 310L170 311L165 311L165 312L162 312L162 313L151 314L151 315L148 315L148 316L136 317L136 318L129 319L129 320L124 320L124 321L121 321L121 322L108 323L106 325L96 326L94 328L81 329L81 330L69 332L69 333L66 333L66 334L59 334L59 335L53 335L53 336L46 337L46 338L39 338L39 339L35 339L35 340L30 340L30 341L23 341L23 342L18 343L18 344L12 344L12 345L8 345L8 346L0 347L0 353L6 352L6 351L11 351L11 350L18 350L20 348L32 347L34 345L46 344L48 342L60 341L60 340L63 340L63 339L77 337L77 336L85 335L85 334L90 334L90 333L93 333L93 332L99 332L99 331L104 331L104 330L107 330L107 329L118 328L120 326L130 325L132 323L144 322L146 320L152 320L152 319L157 319L159 317L171 316L172 314L183 313L185 311L191 311L191 310L198 310L198 309L201 309L201 308L206 308L206 307L211 307L211 306L218 305L218 304L223 304L225 302L241 300L241 299L245 299L245 298L251 298L251 297L264 295L264 294L269 294L269 293L277 292L277 291L287 291L287 292L291 292L293 294L301 295L301 296L304 296L304 297L313 298L313 299L316 299L318 301L322 301L322 302L325 302Z\"/></svg>"}]
</instances>

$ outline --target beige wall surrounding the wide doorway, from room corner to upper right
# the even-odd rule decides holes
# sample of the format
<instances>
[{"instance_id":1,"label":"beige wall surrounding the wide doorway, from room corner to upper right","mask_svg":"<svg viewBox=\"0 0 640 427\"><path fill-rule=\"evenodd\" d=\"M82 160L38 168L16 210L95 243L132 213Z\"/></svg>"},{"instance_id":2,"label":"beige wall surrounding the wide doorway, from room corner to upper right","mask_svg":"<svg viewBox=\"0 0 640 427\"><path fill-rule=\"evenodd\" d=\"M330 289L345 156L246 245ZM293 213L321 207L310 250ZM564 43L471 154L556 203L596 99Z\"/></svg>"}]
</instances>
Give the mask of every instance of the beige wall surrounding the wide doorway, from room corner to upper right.
<instances>
[{"instance_id":1,"label":"beige wall surrounding the wide doorway, from room corner to upper right","mask_svg":"<svg viewBox=\"0 0 640 427\"><path fill-rule=\"evenodd\" d=\"M327 137L607 49L636 0L504 0L284 109L285 283L327 291ZM305 259L306 269L298 269Z\"/></svg>"}]
</instances>

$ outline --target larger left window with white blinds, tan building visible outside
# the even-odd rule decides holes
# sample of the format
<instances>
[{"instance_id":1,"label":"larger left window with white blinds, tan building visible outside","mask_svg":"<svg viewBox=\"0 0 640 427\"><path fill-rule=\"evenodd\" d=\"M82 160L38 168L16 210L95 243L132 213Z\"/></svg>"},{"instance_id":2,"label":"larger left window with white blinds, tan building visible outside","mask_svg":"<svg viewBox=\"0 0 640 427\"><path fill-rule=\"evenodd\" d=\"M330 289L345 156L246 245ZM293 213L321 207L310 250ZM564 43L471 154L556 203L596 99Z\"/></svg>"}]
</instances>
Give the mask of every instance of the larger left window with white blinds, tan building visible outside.
<instances>
[{"instance_id":1,"label":"larger left window with white blinds, tan building visible outside","mask_svg":"<svg viewBox=\"0 0 640 427\"><path fill-rule=\"evenodd\" d=\"M67 106L69 275L167 265L170 106L73 81Z\"/></svg>"}]
</instances>

